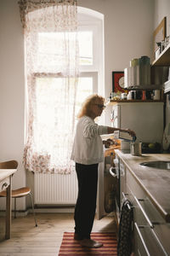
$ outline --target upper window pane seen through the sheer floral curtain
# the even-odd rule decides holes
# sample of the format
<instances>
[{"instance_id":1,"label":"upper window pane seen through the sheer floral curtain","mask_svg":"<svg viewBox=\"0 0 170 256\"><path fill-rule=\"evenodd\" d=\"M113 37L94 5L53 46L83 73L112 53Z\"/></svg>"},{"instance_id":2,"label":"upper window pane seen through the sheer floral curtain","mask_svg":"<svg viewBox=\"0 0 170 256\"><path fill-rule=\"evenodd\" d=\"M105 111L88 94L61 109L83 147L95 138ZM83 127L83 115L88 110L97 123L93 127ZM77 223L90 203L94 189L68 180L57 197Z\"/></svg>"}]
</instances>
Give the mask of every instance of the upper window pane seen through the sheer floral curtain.
<instances>
[{"instance_id":1,"label":"upper window pane seen through the sheer floral curtain","mask_svg":"<svg viewBox=\"0 0 170 256\"><path fill-rule=\"evenodd\" d=\"M37 53L34 60L35 73L65 72L67 61L73 65L78 48L76 32L37 33Z\"/></svg>"}]
</instances>

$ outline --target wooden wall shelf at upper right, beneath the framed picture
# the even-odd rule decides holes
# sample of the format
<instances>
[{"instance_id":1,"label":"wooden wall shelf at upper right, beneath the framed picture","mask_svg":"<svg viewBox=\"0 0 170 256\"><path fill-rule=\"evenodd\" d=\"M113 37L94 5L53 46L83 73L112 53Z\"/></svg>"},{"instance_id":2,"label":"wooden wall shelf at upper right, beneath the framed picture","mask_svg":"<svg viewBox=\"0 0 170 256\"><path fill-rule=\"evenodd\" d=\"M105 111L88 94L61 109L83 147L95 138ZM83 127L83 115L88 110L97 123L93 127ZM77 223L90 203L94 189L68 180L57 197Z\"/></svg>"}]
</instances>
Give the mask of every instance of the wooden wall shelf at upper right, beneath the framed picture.
<instances>
[{"instance_id":1,"label":"wooden wall shelf at upper right, beneath the framed picture","mask_svg":"<svg viewBox=\"0 0 170 256\"><path fill-rule=\"evenodd\" d=\"M153 61L152 66L170 66L170 44L168 44L156 60Z\"/></svg>"}]
</instances>

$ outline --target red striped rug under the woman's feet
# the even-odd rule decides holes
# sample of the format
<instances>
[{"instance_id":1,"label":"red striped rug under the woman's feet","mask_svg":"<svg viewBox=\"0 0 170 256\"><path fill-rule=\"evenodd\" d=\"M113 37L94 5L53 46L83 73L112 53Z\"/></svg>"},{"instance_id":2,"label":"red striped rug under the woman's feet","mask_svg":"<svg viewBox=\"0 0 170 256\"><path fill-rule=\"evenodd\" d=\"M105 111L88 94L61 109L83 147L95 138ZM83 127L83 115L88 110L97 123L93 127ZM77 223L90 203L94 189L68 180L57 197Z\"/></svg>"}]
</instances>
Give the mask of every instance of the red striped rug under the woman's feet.
<instances>
[{"instance_id":1,"label":"red striped rug under the woman's feet","mask_svg":"<svg viewBox=\"0 0 170 256\"><path fill-rule=\"evenodd\" d=\"M65 232L63 236L63 241L59 249L59 256L75 256L75 255L103 255L103 256L116 256L117 251L117 240L116 233L97 233L91 234L91 239L96 241L102 241L103 247L99 248L87 248L82 247L78 241L73 238L74 233Z\"/></svg>"}]
</instances>

